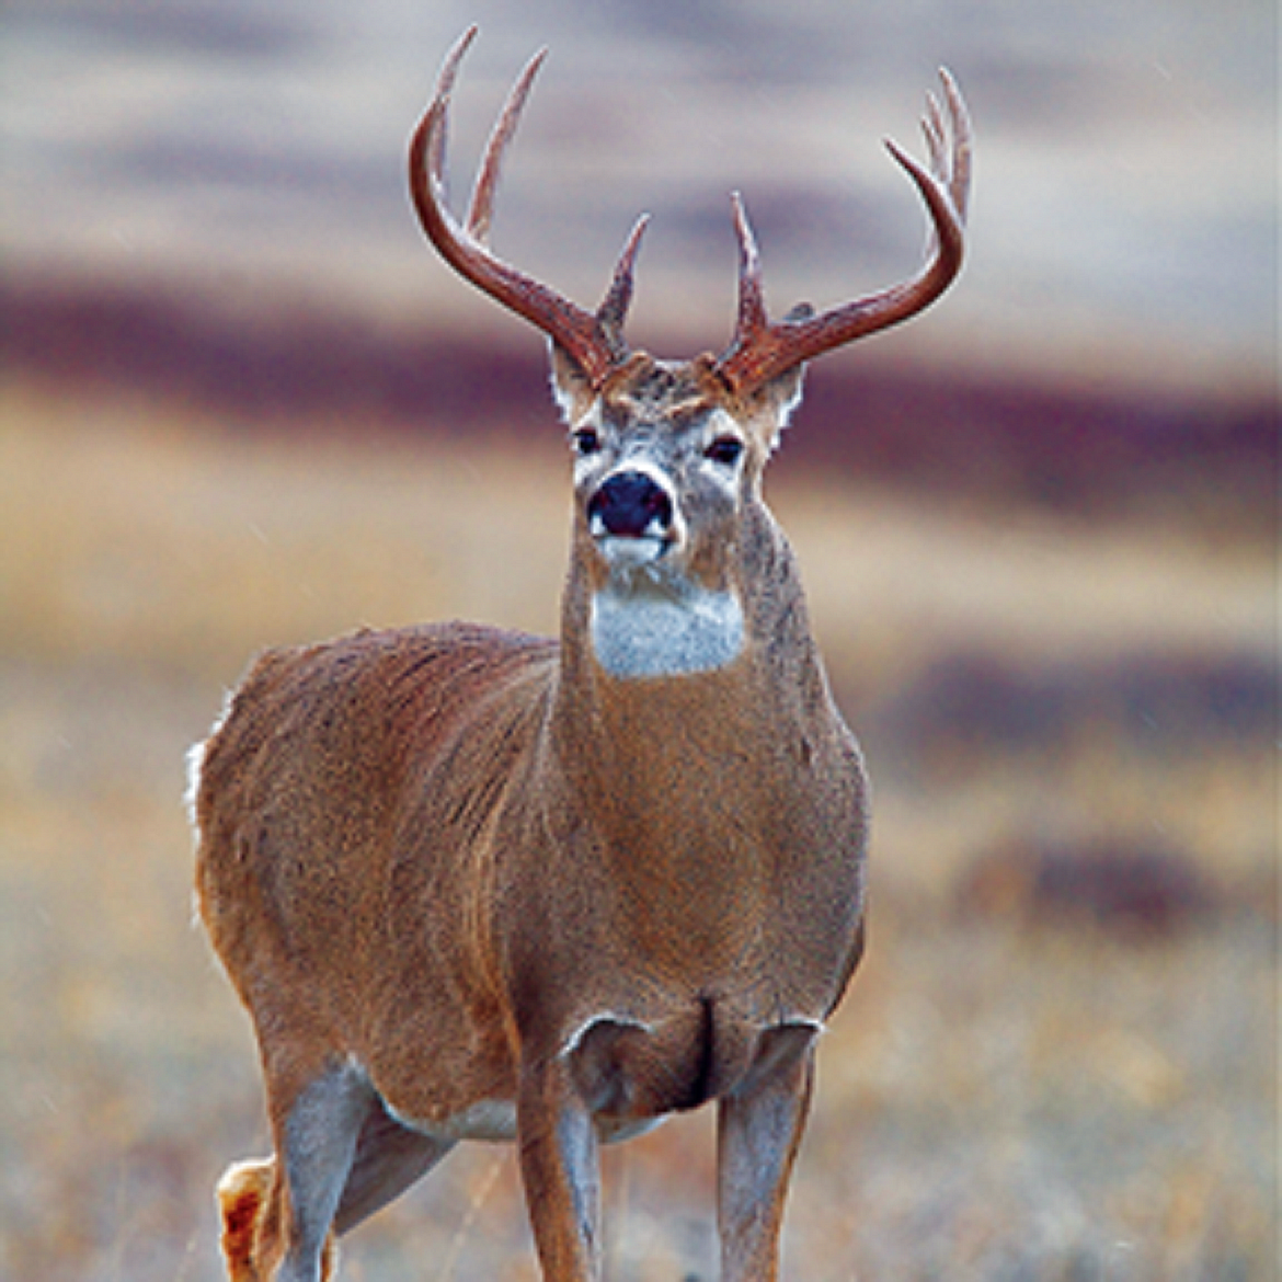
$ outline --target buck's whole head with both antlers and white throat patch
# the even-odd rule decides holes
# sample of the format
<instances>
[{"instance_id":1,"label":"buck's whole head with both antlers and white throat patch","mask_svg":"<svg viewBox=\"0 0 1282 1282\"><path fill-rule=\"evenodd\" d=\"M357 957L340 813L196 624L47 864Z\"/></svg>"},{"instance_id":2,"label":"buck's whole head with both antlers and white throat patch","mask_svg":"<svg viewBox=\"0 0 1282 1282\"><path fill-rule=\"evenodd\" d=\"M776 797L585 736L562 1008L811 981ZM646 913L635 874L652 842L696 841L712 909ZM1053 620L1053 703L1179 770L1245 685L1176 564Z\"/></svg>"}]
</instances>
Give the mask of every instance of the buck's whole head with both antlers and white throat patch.
<instances>
[{"instance_id":1,"label":"buck's whole head with both antlers and white throat patch","mask_svg":"<svg viewBox=\"0 0 1282 1282\"><path fill-rule=\"evenodd\" d=\"M818 313L803 304L772 320L756 240L735 194L733 337L719 356L656 360L633 351L624 337L647 215L632 228L595 312L509 265L488 246L504 159L545 53L529 60L499 114L464 221L450 213L450 100L476 33L476 27L467 31L446 56L410 142L414 206L451 267L551 340L553 386L574 453L576 565L586 570L599 658L633 674L719 667L742 641L749 588L733 582L733 526L745 520L749 506L754 519L769 519L760 506L760 476L800 400L805 363L909 319L960 271L970 186L970 128L962 95L941 72L942 105L928 96L923 119L928 164L887 144L931 217L931 250L914 277ZM619 626L624 603L632 608Z\"/></svg>"}]
</instances>

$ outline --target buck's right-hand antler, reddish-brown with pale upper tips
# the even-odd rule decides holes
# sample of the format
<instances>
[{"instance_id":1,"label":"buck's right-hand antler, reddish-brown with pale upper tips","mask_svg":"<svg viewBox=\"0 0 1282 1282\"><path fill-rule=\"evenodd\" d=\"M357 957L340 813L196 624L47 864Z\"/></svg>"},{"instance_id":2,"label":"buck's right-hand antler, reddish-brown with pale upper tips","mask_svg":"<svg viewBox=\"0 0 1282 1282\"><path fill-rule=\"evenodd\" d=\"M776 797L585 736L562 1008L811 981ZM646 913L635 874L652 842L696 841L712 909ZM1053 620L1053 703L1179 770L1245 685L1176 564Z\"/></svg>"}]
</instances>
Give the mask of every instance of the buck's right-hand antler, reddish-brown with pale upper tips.
<instances>
[{"instance_id":1,"label":"buck's right-hand antler, reddish-brown with pale upper tips","mask_svg":"<svg viewBox=\"0 0 1282 1282\"><path fill-rule=\"evenodd\" d=\"M956 81L942 69L940 81L947 114L935 95L928 94L922 119L929 164L923 165L896 144L886 142L920 191L933 224L931 253L912 279L818 315L810 308L797 308L782 320L772 322L765 312L756 238L738 194L731 197L740 247L738 320L715 369L737 394L746 395L824 351L906 320L953 283L965 250L970 118Z\"/></svg>"}]
</instances>

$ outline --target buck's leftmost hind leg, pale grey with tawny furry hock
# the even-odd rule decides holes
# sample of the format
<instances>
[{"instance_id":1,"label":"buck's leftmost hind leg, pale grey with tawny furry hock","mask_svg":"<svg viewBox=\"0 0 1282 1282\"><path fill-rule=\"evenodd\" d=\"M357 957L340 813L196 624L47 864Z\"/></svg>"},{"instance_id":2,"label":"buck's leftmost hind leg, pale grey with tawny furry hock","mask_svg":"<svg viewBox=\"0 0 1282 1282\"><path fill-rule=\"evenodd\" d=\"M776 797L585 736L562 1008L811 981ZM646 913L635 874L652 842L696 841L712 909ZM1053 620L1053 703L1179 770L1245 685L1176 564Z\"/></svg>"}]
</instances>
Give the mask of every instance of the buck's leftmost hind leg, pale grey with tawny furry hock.
<instances>
[{"instance_id":1,"label":"buck's leftmost hind leg, pale grey with tawny furry hock","mask_svg":"<svg viewBox=\"0 0 1282 1282\"><path fill-rule=\"evenodd\" d=\"M299 1094L277 1153L233 1165L218 1185L231 1282L329 1282L333 1220L374 1094L355 1069L331 1068Z\"/></svg>"}]
</instances>

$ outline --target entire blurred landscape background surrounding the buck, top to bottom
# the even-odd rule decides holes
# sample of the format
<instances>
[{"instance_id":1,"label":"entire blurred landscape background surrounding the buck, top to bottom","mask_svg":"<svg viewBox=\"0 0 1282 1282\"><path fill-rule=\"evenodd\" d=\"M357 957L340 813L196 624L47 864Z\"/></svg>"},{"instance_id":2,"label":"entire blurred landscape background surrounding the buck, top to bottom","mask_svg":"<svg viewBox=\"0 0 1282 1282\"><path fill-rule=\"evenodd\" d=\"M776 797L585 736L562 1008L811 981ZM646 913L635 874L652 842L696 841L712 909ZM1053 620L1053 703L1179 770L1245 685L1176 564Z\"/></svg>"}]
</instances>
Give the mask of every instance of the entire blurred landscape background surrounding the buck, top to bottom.
<instances>
[{"instance_id":1,"label":"entire blurred landscape background surrounding the buck, top to bottom","mask_svg":"<svg viewBox=\"0 0 1282 1282\"><path fill-rule=\"evenodd\" d=\"M183 755L271 644L551 631L542 344L420 244L403 154L470 21L465 186L553 55L500 253L633 341L724 342L727 192L776 312L906 276L935 67L978 133L928 318L820 362L769 477L876 782L870 950L786 1229L815 1279L1278 1269L1277 14L13 0L0 12L0 1276L213 1282L265 1151L191 924ZM713 1136L612 1150L609 1277L715 1277ZM351 1279L536 1277L459 1150Z\"/></svg>"}]
</instances>

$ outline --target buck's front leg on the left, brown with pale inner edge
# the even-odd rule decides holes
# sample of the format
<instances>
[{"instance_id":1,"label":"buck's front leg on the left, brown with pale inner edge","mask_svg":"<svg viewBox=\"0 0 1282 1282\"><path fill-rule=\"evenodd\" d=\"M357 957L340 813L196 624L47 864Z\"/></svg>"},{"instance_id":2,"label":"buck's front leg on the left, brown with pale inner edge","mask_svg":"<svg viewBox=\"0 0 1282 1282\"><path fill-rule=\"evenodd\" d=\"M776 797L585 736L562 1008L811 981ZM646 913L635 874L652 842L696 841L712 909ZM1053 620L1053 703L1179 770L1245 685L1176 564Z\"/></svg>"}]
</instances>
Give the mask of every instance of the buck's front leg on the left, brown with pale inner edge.
<instances>
[{"instance_id":1,"label":"buck's front leg on the left, brown with pale inner edge","mask_svg":"<svg viewBox=\"0 0 1282 1282\"><path fill-rule=\"evenodd\" d=\"M520 1178L549 1282L601 1277L601 1176L596 1123L564 1058L532 1065L517 1101Z\"/></svg>"}]
</instances>

